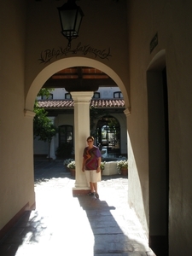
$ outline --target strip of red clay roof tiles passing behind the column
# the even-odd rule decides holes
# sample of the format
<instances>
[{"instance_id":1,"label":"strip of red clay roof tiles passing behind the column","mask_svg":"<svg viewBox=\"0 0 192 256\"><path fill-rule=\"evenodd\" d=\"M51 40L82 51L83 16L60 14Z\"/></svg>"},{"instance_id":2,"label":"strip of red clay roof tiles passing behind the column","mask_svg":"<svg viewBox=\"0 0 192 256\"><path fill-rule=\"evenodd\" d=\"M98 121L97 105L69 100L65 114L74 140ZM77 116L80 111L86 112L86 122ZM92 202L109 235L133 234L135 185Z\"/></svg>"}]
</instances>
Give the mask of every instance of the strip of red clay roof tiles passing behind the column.
<instances>
[{"instance_id":1,"label":"strip of red clay roof tiles passing behind the column","mask_svg":"<svg viewBox=\"0 0 192 256\"><path fill-rule=\"evenodd\" d=\"M73 100L42 100L38 101L39 108L73 108ZM95 108L125 108L123 99L93 99L90 107Z\"/></svg>"}]
</instances>

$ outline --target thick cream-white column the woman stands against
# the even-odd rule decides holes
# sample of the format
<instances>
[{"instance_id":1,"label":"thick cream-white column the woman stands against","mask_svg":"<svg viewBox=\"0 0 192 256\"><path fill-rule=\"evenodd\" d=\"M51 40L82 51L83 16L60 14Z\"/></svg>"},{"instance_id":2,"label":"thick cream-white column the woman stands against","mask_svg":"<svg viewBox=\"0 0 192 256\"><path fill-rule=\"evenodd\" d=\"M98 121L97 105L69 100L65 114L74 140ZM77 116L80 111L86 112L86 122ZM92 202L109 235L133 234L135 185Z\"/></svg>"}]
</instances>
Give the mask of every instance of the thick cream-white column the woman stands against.
<instances>
[{"instance_id":1,"label":"thick cream-white column the woman stands against","mask_svg":"<svg viewBox=\"0 0 192 256\"><path fill-rule=\"evenodd\" d=\"M71 91L74 101L74 142L75 142L75 187L74 190L88 190L90 187L82 172L86 138L90 136L90 99L93 91ZM74 191L75 193L75 191Z\"/></svg>"}]
</instances>

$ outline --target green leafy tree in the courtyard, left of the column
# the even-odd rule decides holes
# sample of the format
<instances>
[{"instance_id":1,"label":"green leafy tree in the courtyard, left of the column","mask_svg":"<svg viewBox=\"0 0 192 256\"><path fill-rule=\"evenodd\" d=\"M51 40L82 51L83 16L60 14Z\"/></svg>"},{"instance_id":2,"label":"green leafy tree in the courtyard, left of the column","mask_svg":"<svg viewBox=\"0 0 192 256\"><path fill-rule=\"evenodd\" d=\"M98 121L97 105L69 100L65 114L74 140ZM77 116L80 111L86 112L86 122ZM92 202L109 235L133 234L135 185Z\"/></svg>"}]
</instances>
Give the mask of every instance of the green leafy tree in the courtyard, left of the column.
<instances>
[{"instance_id":1,"label":"green leafy tree in the courtyard, left of the column","mask_svg":"<svg viewBox=\"0 0 192 256\"><path fill-rule=\"evenodd\" d=\"M38 96L49 96L49 92L52 89L41 89L38 93ZM50 143L52 137L57 133L57 128L53 125L51 119L47 116L48 112L44 108L38 108L38 101L35 101L34 112L36 113L33 119L33 137L34 139L38 137L38 140L49 143L49 153L50 154Z\"/></svg>"}]
</instances>

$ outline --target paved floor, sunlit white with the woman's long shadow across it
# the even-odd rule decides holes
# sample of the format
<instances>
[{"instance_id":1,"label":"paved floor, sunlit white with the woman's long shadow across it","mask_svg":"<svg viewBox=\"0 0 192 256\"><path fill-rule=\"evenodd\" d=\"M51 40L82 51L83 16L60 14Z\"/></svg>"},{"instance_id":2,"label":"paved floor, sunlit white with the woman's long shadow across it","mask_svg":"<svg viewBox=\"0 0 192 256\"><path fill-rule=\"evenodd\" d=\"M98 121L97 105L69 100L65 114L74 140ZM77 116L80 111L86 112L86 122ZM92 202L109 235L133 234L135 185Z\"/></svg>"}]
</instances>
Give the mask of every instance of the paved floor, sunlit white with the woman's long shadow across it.
<instances>
[{"instance_id":1,"label":"paved floor, sunlit white with the woman's long shadow across it","mask_svg":"<svg viewBox=\"0 0 192 256\"><path fill-rule=\"evenodd\" d=\"M126 177L102 177L99 200L73 197L74 182L61 161L36 161L36 210L0 241L0 255L155 256L127 205Z\"/></svg>"}]
</instances>

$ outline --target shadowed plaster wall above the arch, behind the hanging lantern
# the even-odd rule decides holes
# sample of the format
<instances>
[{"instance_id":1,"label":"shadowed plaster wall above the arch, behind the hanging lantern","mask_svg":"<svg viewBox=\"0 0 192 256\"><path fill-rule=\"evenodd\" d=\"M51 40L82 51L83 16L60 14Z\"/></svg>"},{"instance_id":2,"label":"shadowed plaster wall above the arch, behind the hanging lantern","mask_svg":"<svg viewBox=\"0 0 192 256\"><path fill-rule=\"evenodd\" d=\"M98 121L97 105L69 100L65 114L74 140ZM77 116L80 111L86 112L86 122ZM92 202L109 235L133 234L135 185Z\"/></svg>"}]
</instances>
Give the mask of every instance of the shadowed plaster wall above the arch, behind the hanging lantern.
<instances>
[{"instance_id":1,"label":"shadowed plaster wall above the arch, behind the hanging lantern","mask_svg":"<svg viewBox=\"0 0 192 256\"><path fill-rule=\"evenodd\" d=\"M50 64L56 61L79 56L99 61L110 67L114 73L117 73L124 84L120 90L122 90L126 105L129 107L127 96L126 1L122 0L116 3L116 1L111 0L81 0L78 4L84 11L84 19L80 27L79 38L73 40L70 52L67 51L61 55L61 49L67 47L67 39L61 35L61 25L57 11L57 7L62 4L60 1L30 1L28 3L26 96L31 93L29 89L32 82L44 68L49 67ZM95 55L93 51L100 52L100 54ZM42 63L41 60L45 62ZM70 67L70 60L68 65ZM82 62L76 61L75 65L80 66ZM63 68L66 67L63 66ZM39 80L38 89L43 86L46 79L49 79L57 71L59 70L56 67L47 70L44 73L44 78ZM34 90L38 89L34 88Z\"/></svg>"}]
</instances>

